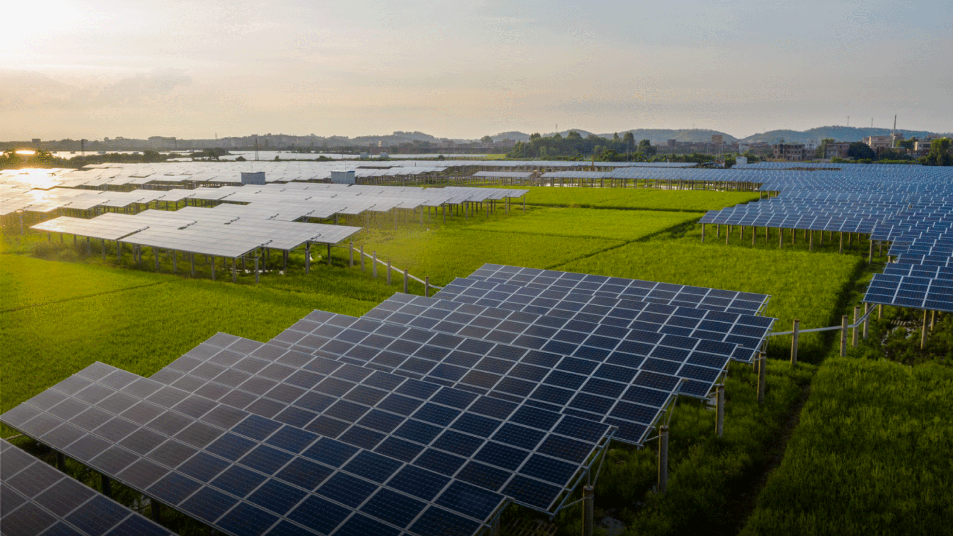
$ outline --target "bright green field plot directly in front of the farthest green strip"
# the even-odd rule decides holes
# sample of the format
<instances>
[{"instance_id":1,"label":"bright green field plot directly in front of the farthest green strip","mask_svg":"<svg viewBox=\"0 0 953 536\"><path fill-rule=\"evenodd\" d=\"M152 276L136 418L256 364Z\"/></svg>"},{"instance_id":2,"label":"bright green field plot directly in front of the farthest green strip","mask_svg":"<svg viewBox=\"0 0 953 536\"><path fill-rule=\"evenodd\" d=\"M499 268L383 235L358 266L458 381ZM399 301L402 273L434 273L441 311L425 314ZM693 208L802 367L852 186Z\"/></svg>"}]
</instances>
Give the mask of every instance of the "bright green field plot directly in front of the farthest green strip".
<instances>
[{"instance_id":1,"label":"bright green field plot directly in front of the farthest green strip","mask_svg":"<svg viewBox=\"0 0 953 536\"><path fill-rule=\"evenodd\" d=\"M697 221L701 213L545 208L525 217L500 219L466 227L472 232L525 233L550 237L597 237L635 240Z\"/></svg>"}]
</instances>

